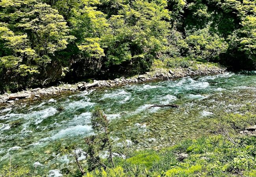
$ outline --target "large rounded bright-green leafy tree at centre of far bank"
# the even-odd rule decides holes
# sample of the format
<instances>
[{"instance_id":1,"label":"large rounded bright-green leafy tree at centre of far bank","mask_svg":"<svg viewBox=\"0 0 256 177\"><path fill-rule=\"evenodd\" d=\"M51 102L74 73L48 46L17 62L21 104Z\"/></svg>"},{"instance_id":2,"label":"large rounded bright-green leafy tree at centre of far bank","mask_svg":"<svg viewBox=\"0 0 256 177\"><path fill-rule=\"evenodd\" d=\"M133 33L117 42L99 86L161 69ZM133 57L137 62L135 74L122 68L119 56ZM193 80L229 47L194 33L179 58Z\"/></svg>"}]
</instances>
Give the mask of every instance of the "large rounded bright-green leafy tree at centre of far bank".
<instances>
[{"instance_id":1,"label":"large rounded bright-green leafy tree at centre of far bank","mask_svg":"<svg viewBox=\"0 0 256 177\"><path fill-rule=\"evenodd\" d=\"M167 44L170 14L166 6L164 0L136 0L109 18L110 28L102 37L107 68L133 74L150 68Z\"/></svg>"}]
</instances>

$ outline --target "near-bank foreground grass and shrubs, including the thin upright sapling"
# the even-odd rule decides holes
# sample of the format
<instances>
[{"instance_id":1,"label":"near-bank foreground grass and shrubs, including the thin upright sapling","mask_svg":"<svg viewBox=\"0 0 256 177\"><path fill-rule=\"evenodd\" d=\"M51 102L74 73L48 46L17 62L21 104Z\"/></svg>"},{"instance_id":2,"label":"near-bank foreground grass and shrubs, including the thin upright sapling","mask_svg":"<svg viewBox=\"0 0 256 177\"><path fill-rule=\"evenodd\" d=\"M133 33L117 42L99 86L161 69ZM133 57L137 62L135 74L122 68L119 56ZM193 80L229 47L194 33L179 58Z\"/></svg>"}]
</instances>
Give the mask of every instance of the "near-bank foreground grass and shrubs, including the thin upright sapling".
<instances>
[{"instance_id":1,"label":"near-bank foreground grass and shrubs, including the thin upright sapling","mask_svg":"<svg viewBox=\"0 0 256 177\"><path fill-rule=\"evenodd\" d=\"M107 131L104 131L104 135L92 135L86 138L89 144L88 159L77 161L80 170L71 171L67 176L256 177L256 127L245 131L246 127L256 124L255 106L256 104L247 104L241 107L242 114L223 114L221 118L202 123L202 126L207 125L215 135L202 136L196 140L187 139L160 150L136 151L131 147L112 149ZM97 130L106 130L108 127L106 116L98 108L93 113L92 124L96 125ZM98 153L102 147L108 147L109 154L115 154L115 157L100 158ZM121 155L124 154L125 158L122 158ZM10 172L10 166L2 168L0 175L39 177L24 168Z\"/></svg>"}]
</instances>

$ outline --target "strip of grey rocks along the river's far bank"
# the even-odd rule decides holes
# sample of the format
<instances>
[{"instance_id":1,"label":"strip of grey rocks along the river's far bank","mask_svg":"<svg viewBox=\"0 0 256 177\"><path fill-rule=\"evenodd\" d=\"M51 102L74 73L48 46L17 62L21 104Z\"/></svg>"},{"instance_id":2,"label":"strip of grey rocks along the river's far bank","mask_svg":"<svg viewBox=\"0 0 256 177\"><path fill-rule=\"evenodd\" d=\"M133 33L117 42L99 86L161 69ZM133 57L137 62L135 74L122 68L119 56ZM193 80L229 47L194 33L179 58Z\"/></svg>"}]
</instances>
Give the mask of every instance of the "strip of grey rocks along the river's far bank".
<instances>
[{"instance_id":1,"label":"strip of grey rocks along the river's far bank","mask_svg":"<svg viewBox=\"0 0 256 177\"><path fill-rule=\"evenodd\" d=\"M14 104L15 101L21 99L37 99L41 96L47 95L58 95L67 90L76 91L76 90L87 90L93 87L115 87L119 85L126 85L130 83L139 83L145 81L153 81L158 79L176 79L186 76L197 76L197 75L211 75L211 74L222 74L226 71L226 68L211 66L205 67L198 65L197 70L192 68L178 68L173 70L166 69L155 69L152 72L146 72L143 75L134 76L130 78L117 78L114 80L94 80L93 83L79 82L76 84L63 84L56 87L49 88L37 88L37 89L28 89L22 90L21 92L8 94L5 93L0 95L0 103Z\"/></svg>"}]
</instances>

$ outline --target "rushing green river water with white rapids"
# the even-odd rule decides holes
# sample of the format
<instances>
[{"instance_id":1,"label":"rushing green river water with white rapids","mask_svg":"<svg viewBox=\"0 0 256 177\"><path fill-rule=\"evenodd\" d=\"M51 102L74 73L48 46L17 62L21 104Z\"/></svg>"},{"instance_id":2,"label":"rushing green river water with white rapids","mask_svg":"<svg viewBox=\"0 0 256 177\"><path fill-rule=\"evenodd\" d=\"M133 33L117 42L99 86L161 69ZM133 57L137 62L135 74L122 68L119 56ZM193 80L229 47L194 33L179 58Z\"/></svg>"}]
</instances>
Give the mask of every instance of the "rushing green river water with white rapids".
<instances>
[{"instance_id":1,"label":"rushing green river water with white rapids","mask_svg":"<svg viewBox=\"0 0 256 177\"><path fill-rule=\"evenodd\" d=\"M0 110L0 167L8 163L9 155L13 165L68 167L70 158L59 149L85 146L83 138L93 133L90 116L96 105L111 121L117 143L125 137L137 147L159 147L207 133L200 122L255 101L256 72L226 72L75 92L7 107ZM169 103L180 107L149 108ZM58 111L60 106L64 111Z\"/></svg>"}]
</instances>

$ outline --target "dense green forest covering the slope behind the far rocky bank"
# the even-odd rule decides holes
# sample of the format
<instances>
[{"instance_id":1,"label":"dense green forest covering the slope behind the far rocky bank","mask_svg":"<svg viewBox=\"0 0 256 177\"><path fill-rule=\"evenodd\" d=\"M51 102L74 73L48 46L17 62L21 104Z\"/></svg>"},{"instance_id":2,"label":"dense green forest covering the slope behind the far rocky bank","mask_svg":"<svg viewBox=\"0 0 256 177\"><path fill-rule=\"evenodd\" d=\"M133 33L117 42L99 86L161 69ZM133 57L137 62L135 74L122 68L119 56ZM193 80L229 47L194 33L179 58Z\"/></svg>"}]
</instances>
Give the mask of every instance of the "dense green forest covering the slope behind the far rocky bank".
<instances>
[{"instance_id":1,"label":"dense green forest covering the slope behind the far rocky bank","mask_svg":"<svg viewBox=\"0 0 256 177\"><path fill-rule=\"evenodd\" d=\"M156 60L255 69L255 0L2 0L0 90L148 71Z\"/></svg>"}]
</instances>

